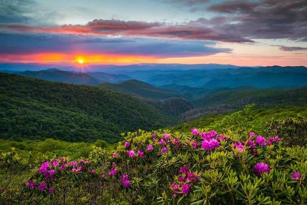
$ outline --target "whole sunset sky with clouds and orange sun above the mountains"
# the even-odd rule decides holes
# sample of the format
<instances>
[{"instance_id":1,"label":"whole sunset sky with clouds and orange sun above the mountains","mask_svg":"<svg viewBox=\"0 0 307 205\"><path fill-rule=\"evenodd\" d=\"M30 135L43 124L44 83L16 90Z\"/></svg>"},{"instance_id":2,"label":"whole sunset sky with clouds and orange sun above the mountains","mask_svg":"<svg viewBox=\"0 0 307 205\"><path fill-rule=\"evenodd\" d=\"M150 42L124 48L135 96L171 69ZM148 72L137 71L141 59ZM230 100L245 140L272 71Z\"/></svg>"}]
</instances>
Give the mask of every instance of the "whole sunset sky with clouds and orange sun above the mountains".
<instances>
[{"instance_id":1,"label":"whole sunset sky with clouds and orange sun above the mountains","mask_svg":"<svg viewBox=\"0 0 307 205\"><path fill-rule=\"evenodd\" d=\"M307 66L307 1L0 0L0 63Z\"/></svg>"}]
</instances>

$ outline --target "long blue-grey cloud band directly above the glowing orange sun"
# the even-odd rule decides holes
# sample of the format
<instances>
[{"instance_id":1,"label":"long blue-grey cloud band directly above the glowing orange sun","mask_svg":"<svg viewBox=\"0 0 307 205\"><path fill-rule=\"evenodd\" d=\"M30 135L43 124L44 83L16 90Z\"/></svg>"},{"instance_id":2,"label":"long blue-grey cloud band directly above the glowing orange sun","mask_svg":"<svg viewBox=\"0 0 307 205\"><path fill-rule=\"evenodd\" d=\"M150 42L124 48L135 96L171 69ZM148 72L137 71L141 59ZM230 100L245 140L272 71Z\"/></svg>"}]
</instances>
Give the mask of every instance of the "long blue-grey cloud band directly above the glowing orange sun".
<instances>
[{"instance_id":1,"label":"long blue-grey cloud band directly above the glowing orange sun","mask_svg":"<svg viewBox=\"0 0 307 205\"><path fill-rule=\"evenodd\" d=\"M107 53L143 55L159 58L205 56L229 53L231 49L216 48L214 42L152 38L114 38L58 34L0 34L1 54L35 53ZM11 42L14 42L12 44Z\"/></svg>"}]
</instances>

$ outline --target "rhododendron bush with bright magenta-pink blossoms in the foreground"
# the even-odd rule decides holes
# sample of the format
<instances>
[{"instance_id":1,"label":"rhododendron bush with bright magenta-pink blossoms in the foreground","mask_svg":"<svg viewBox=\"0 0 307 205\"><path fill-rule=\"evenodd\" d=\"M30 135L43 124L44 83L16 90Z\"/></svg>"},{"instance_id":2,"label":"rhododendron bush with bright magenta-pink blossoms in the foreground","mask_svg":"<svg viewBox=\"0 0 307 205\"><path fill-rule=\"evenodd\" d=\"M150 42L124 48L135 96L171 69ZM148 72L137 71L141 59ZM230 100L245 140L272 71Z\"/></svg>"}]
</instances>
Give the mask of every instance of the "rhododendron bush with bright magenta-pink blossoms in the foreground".
<instances>
[{"instance_id":1,"label":"rhododendron bush with bright magenta-pink blossoms in the foreground","mask_svg":"<svg viewBox=\"0 0 307 205\"><path fill-rule=\"evenodd\" d=\"M282 137L139 130L88 159L43 161L16 197L39 204L306 204L307 149ZM4 162L4 161L3 161Z\"/></svg>"}]
</instances>

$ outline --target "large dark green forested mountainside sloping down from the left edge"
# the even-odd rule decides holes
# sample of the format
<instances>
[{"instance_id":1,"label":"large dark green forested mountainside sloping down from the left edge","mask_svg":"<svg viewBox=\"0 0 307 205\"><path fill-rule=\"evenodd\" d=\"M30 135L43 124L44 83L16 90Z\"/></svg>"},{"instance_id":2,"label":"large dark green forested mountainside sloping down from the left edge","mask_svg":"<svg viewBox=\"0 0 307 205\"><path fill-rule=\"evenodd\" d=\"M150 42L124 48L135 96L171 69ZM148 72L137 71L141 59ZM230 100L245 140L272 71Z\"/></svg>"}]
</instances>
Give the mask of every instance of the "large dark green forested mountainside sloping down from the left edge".
<instances>
[{"instance_id":1,"label":"large dark green forested mountainside sloping down from the left edge","mask_svg":"<svg viewBox=\"0 0 307 205\"><path fill-rule=\"evenodd\" d=\"M0 138L118 140L169 125L146 100L99 87L0 73Z\"/></svg>"}]
</instances>

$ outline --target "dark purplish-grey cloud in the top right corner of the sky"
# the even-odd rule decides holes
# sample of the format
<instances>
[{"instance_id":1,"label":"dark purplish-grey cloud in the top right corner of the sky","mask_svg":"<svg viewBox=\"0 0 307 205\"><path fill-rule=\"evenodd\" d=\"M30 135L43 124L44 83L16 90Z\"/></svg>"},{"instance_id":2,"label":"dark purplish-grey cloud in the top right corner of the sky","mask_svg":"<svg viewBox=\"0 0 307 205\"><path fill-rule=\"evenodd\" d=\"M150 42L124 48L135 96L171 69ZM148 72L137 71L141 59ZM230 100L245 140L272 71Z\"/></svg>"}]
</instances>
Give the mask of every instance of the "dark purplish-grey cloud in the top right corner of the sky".
<instances>
[{"instance_id":1,"label":"dark purplish-grey cloud in the top right corner of the sky","mask_svg":"<svg viewBox=\"0 0 307 205\"><path fill-rule=\"evenodd\" d=\"M249 39L307 41L306 0L226 1L212 5L209 10L227 14L233 29Z\"/></svg>"}]
</instances>

